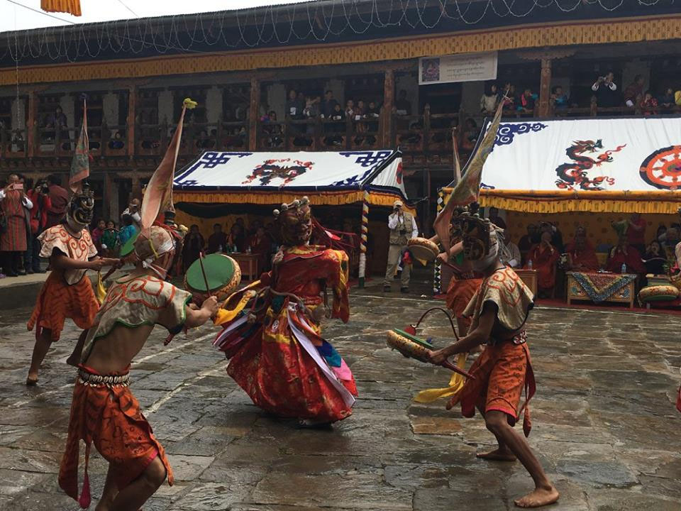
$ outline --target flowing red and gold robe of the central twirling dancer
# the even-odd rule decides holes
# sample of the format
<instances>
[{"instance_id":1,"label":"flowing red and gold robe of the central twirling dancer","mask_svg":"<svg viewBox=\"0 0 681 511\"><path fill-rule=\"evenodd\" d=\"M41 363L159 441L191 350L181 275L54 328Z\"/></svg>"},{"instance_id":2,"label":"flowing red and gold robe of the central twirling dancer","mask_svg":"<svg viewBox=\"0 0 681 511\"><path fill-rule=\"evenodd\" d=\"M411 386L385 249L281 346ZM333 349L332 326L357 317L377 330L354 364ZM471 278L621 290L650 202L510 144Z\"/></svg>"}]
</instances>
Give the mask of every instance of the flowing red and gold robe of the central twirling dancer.
<instances>
[{"instance_id":1,"label":"flowing red and gold robe of the central twirling dancer","mask_svg":"<svg viewBox=\"0 0 681 511\"><path fill-rule=\"evenodd\" d=\"M231 357L227 372L253 403L282 417L336 422L352 414L357 395L350 368L328 341L314 319L323 307L325 286L333 292L331 317L348 321L348 255L320 246L284 249L275 270L232 295L216 324L224 329L214 342ZM265 292L265 302L255 293L270 287L289 296ZM260 310L248 321L245 304L255 301Z\"/></svg>"}]
</instances>

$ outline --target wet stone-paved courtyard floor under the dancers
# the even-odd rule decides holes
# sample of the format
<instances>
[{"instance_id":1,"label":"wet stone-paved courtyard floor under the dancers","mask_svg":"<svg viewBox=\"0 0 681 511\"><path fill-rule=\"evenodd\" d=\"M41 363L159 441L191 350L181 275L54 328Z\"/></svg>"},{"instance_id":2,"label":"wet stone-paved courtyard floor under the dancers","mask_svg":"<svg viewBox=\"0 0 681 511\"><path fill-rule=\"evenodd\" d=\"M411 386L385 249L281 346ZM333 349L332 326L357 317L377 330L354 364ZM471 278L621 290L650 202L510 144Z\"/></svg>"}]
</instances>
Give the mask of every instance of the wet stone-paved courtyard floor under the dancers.
<instances>
[{"instance_id":1,"label":"wet stone-paved courtyard floor under the dancers","mask_svg":"<svg viewBox=\"0 0 681 511\"><path fill-rule=\"evenodd\" d=\"M411 400L445 386L448 371L385 346L388 328L441 303L375 286L353 290L350 323L328 322L325 336L348 360L360 399L333 431L299 430L254 407L211 346L213 328L181 334L167 348L157 328L133 364L133 391L176 483L162 486L145 511L513 509L531 479L519 463L475 458L492 445L480 417ZM0 312L0 509L77 510L57 486L74 378L64 361L77 332L67 326L40 386L26 388L33 346L26 317L26 308ZM436 343L447 335L443 318L427 324ZM562 494L550 509L681 509L680 331L680 317L533 312L530 440ZM95 498L105 471L94 454Z\"/></svg>"}]
</instances>

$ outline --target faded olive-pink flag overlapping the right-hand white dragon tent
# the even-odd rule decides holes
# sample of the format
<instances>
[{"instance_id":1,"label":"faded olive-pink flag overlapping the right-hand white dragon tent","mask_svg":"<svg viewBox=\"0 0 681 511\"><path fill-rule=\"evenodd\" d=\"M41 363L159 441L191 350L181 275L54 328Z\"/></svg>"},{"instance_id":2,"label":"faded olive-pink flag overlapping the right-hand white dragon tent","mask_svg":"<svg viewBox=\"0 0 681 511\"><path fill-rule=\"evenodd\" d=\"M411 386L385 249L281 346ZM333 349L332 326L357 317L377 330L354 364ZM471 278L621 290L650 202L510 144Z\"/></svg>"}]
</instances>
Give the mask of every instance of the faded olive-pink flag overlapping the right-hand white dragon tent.
<instances>
[{"instance_id":1,"label":"faded olive-pink flag overlapping the right-hand white dragon tent","mask_svg":"<svg viewBox=\"0 0 681 511\"><path fill-rule=\"evenodd\" d=\"M480 197L482 167L485 165L487 156L492 152L492 148L494 148L494 141L497 139L497 130L499 129L499 123L502 120L503 110L504 100L502 99L502 101L499 102L492 123L490 123L489 128L487 128L487 133L485 133L482 141L477 146L475 153L473 153L470 160L468 160L463 177L457 182L452 190L452 194L449 196L447 204L445 204L445 207L440 211L433 223L433 229L435 229L436 234L440 238L440 242L442 243L445 252L448 252L450 249L449 223L452 219L455 207L466 206L471 202L477 202L477 198Z\"/></svg>"}]
</instances>

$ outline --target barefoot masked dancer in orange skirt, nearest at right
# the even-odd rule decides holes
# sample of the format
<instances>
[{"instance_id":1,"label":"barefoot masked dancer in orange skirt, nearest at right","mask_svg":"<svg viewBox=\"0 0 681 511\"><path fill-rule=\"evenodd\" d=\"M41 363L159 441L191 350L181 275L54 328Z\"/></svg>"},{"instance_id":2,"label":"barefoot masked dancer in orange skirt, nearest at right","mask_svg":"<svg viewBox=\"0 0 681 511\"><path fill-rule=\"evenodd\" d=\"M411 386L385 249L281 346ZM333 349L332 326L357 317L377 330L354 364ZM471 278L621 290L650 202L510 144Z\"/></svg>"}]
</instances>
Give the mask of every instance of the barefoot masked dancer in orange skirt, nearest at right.
<instances>
[{"instance_id":1,"label":"barefoot masked dancer in orange skirt, nearest at right","mask_svg":"<svg viewBox=\"0 0 681 511\"><path fill-rule=\"evenodd\" d=\"M473 378L451 398L448 408L460 402L465 417L472 417L475 407L485 417L487 429L497 437L499 446L479 454L480 458L494 461L517 458L530 473L535 489L515 500L517 506L548 505L558 500L558 490L548 480L526 439L513 429L522 410L526 436L531 429L527 404L536 385L525 324L533 307L533 295L518 275L499 259L502 239L497 227L468 213L461 214L460 220L464 257L485 279L465 311L465 315L472 317L467 335L450 346L432 351L431 361L442 364L456 353L486 345L469 370ZM520 407L523 390L526 401Z\"/></svg>"}]
</instances>

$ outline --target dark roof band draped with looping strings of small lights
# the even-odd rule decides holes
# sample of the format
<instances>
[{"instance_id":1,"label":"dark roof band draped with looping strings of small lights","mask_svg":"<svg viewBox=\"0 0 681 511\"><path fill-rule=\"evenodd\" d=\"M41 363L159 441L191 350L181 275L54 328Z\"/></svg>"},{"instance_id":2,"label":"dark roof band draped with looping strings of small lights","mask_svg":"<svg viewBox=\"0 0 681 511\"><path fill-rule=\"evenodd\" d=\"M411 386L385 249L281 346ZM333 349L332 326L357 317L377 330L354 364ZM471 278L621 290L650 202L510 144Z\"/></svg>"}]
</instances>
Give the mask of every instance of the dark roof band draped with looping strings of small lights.
<instances>
[{"instance_id":1,"label":"dark roof band draped with looping strings of small lights","mask_svg":"<svg viewBox=\"0 0 681 511\"><path fill-rule=\"evenodd\" d=\"M670 0L636 0L655 6ZM489 16L524 18L555 7L570 13L582 6L616 11L625 0L335 0L267 6L240 11L138 18L88 25L60 26L11 34L13 44L0 50L13 62L27 58L76 62L104 55L206 53L217 48L257 48L277 43L324 42L370 29L432 29L443 21L475 25ZM633 2L629 1L628 4ZM20 4L17 4L20 5ZM236 25L236 30L235 26ZM217 47L217 48L216 48Z\"/></svg>"}]
</instances>

